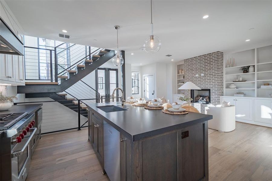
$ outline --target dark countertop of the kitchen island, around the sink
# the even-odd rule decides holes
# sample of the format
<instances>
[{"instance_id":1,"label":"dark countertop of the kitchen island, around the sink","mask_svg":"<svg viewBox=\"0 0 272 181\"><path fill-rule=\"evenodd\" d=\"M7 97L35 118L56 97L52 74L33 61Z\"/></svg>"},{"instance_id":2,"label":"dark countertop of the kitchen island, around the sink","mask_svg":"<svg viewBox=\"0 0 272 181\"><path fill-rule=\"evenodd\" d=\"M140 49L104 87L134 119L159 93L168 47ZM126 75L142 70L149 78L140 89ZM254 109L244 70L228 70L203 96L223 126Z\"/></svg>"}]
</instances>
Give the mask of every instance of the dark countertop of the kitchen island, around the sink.
<instances>
[{"instance_id":1,"label":"dark countertop of the kitchen island, around the sink","mask_svg":"<svg viewBox=\"0 0 272 181\"><path fill-rule=\"evenodd\" d=\"M171 115L163 113L162 110L148 110L143 106L125 105L126 111L111 113L96 107L106 105L121 107L120 102L87 104L92 111L103 116L106 122L132 141L213 119L213 116L207 114L189 112L184 115Z\"/></svg>"}]
</instances>

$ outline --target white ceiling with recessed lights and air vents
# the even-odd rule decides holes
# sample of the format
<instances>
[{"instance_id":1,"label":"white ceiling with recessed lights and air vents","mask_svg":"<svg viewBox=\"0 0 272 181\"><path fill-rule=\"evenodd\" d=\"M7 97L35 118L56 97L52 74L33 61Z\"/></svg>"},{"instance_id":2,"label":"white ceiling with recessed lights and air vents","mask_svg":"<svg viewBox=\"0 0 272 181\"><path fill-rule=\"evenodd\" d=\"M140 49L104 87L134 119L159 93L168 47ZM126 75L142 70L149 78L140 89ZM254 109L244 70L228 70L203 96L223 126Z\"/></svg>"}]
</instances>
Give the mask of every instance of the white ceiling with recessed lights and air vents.
<instances>
[{"instance_id":1,"label":"white ceiling with recessed lights and air vents","mask_svg":"<svg viewBox=\"0 0 272 181\"><path fill-rule=\"evenodd\" d=\"M162 42L155 54L139 50L150 33L150 1L6 3L25 34L34 37L115 49L114 25L120 25L119 47L126 51L126 62L133 65L180 61L272 41L272 1L153 0L154 34ZM209 17L203 19L206 14ZM63 29L72 36L70 40L58 37Z\"/></svg>"}]
</instances>

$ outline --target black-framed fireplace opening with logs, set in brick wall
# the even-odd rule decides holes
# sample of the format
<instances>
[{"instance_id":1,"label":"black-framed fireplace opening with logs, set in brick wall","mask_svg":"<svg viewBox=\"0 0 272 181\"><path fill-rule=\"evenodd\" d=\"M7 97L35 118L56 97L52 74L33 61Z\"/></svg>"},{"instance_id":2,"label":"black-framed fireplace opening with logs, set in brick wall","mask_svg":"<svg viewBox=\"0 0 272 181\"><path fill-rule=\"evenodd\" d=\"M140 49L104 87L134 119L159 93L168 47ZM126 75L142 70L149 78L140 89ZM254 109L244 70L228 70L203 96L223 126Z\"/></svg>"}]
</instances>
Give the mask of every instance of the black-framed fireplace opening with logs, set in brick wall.
<instances>
[{"instance_id":1,"label":"black-framed fireplace opening with logs, set in brick wall","mask_svg":"<svg viewBox=\"0 0 272 181\"><path fill-rule=\"evenodd\" d=\"M211 90L201 89L201 90L191 90L192 103L211 103Z\"/></svg>"}]
</instances>

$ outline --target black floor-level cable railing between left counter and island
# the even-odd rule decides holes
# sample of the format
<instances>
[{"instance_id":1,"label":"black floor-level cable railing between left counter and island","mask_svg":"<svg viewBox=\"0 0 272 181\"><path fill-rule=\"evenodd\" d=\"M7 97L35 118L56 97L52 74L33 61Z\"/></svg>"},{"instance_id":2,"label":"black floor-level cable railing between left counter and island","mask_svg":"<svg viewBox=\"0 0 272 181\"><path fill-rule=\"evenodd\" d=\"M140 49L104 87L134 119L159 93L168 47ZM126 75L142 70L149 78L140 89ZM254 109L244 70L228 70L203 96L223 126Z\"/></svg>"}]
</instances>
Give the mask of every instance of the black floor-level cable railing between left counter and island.
<instances>
[{"instance_id":1,"label":"black floor-level cable railing between left counter and island","mask_svg":"<svg viewBox=\"0 0 272 181\"><path fill-rule=\"evenodd\" d=\"M114 98L118 101L121 99L121 97ZM37 100L37 98L33 99ZM14 105L42 103L43 121L41 131L42 134L48 134L72 129L81 130L81 128L87 127L88 108L81 108L81 103L87 100L96 101L97 99L50 100L50 98L43 97L40 98L40 101L18 102L14 103ZM75 101L77 101L77 105L73 103ZM88 107L88 104L86 105Z\"/></svg>"}]
</instances>

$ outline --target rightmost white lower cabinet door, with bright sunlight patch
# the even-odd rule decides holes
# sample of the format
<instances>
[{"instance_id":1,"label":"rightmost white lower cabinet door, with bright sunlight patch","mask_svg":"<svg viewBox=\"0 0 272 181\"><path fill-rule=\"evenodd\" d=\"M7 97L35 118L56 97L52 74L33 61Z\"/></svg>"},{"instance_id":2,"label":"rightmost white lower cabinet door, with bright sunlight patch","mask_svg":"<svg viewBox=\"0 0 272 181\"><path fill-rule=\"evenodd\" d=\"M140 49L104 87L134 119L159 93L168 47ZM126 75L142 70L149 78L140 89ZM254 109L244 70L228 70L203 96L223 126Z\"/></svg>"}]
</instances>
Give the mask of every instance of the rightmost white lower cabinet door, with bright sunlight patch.
<instances>
[{"instance_id":1,"label":"rightmost white lower cabinet door, with bright sunlight patch","mask_svg":"<svg viewBox=\"0 0 272 181\"><path fill-rule=\"evenodd\" d=\"M254 100L254 121L272 124L272 100Z\"/></svg>"}]
</instances>

